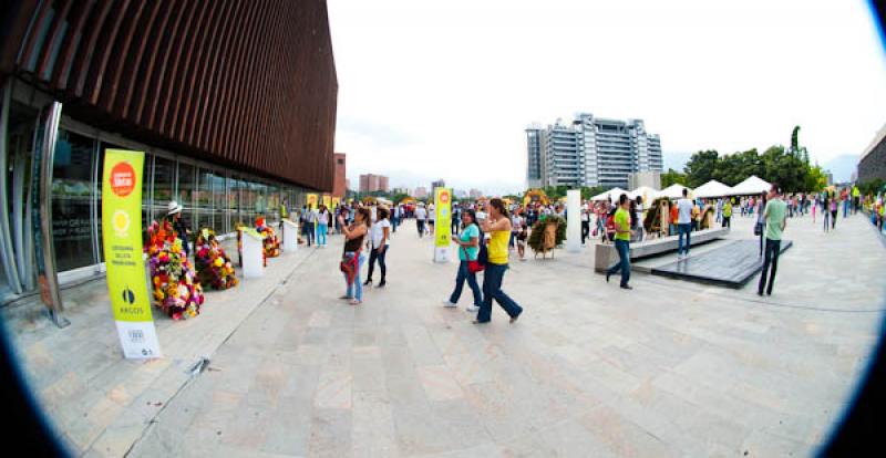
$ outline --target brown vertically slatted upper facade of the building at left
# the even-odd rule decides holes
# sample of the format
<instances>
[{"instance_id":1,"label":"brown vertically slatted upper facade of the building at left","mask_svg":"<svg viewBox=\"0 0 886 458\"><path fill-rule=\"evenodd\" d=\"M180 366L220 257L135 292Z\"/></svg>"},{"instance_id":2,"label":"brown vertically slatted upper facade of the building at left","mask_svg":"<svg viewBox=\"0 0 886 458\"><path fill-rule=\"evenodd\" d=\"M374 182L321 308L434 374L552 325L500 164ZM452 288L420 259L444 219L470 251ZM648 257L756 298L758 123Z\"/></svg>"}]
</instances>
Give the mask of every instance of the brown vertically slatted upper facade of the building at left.
<instances>
[{"instance_id":1,"label":"brown vertically slatted upper facade of the building at left","mask_svg":"<svg viewBox=\"0 0 886 458\"><path fill-rule=\"evenodd\" d=\"M0 72L71 117L332 190L338 81L324 0L20 0Z\"/></svg>"}]
</instances>

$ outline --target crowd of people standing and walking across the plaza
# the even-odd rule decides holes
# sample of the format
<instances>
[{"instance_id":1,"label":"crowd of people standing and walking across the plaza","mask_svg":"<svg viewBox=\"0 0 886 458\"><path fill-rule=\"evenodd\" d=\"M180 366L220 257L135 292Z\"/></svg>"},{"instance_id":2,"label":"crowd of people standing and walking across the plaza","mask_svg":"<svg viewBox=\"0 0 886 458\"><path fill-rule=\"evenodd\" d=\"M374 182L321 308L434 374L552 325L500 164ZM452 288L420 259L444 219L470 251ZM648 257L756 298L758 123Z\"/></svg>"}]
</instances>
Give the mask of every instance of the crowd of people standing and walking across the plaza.
<instances>
[{"instance_id":1,"label":"crowd of people standing and walking across the plaza","mask_svg":"<svg viewBox=\"0 0 886 458\"><path fill-rule=\"evenodd\" d=\"M646 204L646 205L645 205ZM715 199L691 199L687 190L673 202L668 202L662 215L666 227L647 233L643 229L643 215L651 202L642 198L629 198L626 194L610 199L585 201L580 206L581 244L588 239L599 238L600 243L612 243L619 261L606 272L606 281L620 274L619 285L630 290L630 243L647 237L677 236L678 261L689 258L692 232L710 226L702 225L702 218L710 217L720 227L729 228L733 216L754 219L754 235L760 240L760 257L763 271L760 278L759 294L771 294L781 252L781 235L789 218L804 218L810 215L815 222L821 214L823 228L836 228L839 210L843 217L866 208L872 214L872 222L882 230L884 204L880 196L863 197L857 188L837 190L830 188L814 194L783 195L777 185L758 196L721 197ZM709 211L713 212L713 216ZM358 305L362 302L363 287L383 288L387 284L387 253L391 247L392 235L406 219L415 220L419 238L434 236L436 209L433 202L410 202L392 205L390 208L377 204L342 204L334 209L326 206L297 211L301 222L302 236L308 246L328 246L327 235L334 231L344 236L341 271L346 280L343 300ZM455 308L461 299L464 284L472 293L468 312L476 313L476 323L491 320L492 303L497 302L515 321L522 308L502 290L502 283L512 256L526 260L526 244L532 228L539 221L552 217L566 219L566 206L562 202L508 202L503 199L474 202L455 202L452 206L452 242L459 257L455 285L444 306ZM361 279L365 266L365 280ZM375 266L381 279L373 284ZM477 277L483 272L482 285Z\"/></svg>"}]
</instances>

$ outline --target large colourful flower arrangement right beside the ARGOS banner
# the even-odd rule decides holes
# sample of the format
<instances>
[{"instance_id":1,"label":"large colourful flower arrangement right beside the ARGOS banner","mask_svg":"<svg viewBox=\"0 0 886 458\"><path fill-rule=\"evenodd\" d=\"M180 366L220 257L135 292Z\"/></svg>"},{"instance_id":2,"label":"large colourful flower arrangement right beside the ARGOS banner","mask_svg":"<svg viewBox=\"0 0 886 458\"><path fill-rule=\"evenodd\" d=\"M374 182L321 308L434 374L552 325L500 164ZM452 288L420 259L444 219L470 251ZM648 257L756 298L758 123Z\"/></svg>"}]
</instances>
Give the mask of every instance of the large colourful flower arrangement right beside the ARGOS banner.
<instances>
[{"instance_id":1,"label":"large colourful flower arrangement right beside the ARGOS banner","mask_svg":"<svg viewBox=\"0 0 886 458\"><path fill-rule=\"evenodd\" d=\"M154 221L147 230L151 282L154 302L173 320L189 319L200 313L203 288L195 282L194 268L183 256L182 239L169 221Z\"/></svg>"}]
</instances>

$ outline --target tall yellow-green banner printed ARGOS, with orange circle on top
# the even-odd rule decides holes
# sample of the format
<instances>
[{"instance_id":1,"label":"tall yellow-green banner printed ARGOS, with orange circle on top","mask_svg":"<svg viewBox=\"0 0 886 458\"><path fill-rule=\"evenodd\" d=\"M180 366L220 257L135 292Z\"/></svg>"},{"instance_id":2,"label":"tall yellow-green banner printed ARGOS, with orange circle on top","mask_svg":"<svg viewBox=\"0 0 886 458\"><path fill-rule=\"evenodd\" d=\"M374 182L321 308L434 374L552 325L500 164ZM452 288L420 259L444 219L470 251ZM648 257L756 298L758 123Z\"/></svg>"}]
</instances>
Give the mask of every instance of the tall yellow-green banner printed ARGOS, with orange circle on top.
<instances>
[{"instance_id":1,"label":"tall yellow-green banner printed ARGOS, with orange circle on top","mask_svg":"<svg viewBox=\"0 0 886 458\"><path fill-rule=\"evenodd\" d=\"M107 149L102 174L102 241L107 293L127 358L161 357L142 258L142 168L145 154Z\"/></svg>"}]
</instances>

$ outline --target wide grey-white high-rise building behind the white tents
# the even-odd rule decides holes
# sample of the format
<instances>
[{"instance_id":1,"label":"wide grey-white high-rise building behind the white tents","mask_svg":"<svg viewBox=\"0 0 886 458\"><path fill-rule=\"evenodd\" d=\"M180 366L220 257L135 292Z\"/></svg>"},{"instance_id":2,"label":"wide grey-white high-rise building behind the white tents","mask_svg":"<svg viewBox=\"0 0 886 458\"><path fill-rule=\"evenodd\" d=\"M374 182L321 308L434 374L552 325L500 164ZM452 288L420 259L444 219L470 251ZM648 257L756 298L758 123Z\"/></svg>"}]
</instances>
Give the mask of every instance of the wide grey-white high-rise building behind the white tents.
<instances>
[{"instance_id":1,"label":"wide grey-white high-rise building behind the white tents","mask_svg":"<svg viewBox=\"0 0 886 458\"><path fill-rule=\"evenodd\" d=\"M526 128L527 184L628 187L637 171L661 170L661 140L640 119L579 114L571 123ZM537 181L536 181L537 180Z\"/></svg>"}]
</instances>

